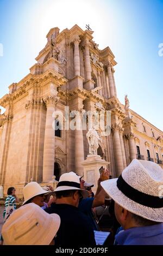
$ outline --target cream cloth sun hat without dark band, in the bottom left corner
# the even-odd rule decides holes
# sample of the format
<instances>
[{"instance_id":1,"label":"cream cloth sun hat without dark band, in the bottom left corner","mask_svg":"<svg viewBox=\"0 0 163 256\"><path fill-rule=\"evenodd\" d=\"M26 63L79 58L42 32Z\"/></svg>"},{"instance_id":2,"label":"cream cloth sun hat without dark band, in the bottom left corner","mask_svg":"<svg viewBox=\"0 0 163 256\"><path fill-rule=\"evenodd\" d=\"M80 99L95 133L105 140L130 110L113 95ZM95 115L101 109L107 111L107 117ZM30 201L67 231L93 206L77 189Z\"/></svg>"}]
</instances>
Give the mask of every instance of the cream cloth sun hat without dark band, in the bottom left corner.
<instances>
[{"instance_id":1,"label":"cream cloth sun hat without dark band, in the bottom left corner","mask_svg":"<svg viewBox=\"0 0 163 256\"><path fill-rule=\"evenodd\" d=\"M59 215L30 203L14 211L2 227L4 245L49 245L60 227Z\"/></svg>"}]
</instances>

